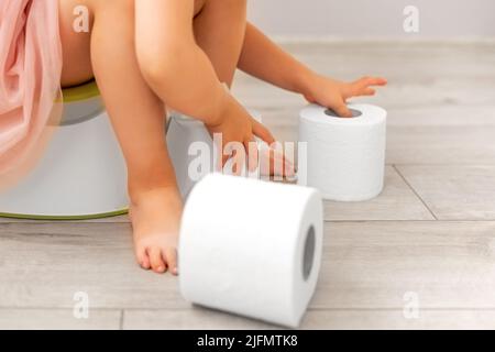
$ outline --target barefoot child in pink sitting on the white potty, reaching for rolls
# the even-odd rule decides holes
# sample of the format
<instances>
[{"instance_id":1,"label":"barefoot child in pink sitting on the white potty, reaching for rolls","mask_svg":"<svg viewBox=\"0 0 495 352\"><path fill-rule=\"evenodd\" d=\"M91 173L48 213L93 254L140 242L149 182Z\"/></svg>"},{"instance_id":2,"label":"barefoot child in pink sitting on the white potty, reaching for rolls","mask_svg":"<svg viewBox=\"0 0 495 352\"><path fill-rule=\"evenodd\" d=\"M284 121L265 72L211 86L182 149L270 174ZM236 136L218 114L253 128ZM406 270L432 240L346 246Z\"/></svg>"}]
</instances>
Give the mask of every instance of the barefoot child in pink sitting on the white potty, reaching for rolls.
<instances>
[{"instance_id":1,"label":"barefoot child in pink sitting on the white potty, reaching for rolls","mask_svg":"<svg viewBox=\"0 0 495 352\"><path fill-rule=\"evenodd\" d=\"M87 33L73 26L74 10L80 6L89 11ZM28 19L25 26L37 25L36 31L24 32L25 38L14 20L20 18ZM48 28L54 24L58 33L51 34ZM13 54L3 55L6 33L14 33L12 41L35 43L51 55L48 63L36 62L37 72L43 73L34 85L40 90L50 92L96 78L129 170L136 260L156 273L168 270L177 274L183 211L163 132L166 109L202 121L210 133L222 134L223 144L248 145L254 138L271 144L275 141L271 132L223 87L231 86L237 68L329 107L341 117L351 116L348 98L372 96L373 86L386 85L383 78L343 82L316 74L246 22L246 0L2 0L2 67L14 62ZM14 55L25 53L15 51ZM58 87L40 84L47 75ZM0 101L0 122L15 111L9 112L3 103ZM28 121L34 123L37 114L32 113Z\"/></svg>"}]
</instances>

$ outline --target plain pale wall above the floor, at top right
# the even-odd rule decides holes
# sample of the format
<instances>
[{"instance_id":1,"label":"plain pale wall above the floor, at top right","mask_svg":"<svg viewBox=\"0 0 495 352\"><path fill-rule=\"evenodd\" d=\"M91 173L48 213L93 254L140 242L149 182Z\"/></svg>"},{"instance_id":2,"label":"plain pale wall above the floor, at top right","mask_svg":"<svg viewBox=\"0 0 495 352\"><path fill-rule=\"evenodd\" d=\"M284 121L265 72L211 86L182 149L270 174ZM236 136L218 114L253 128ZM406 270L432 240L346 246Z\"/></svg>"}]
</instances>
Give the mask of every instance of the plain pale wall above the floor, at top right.
<instances>
[{"instance_id":1,"label":"plain pale wall above the floor, at top right","mask_svg":"<svg viewBox=\"0 0 495 352\"><path fill-rule=\"evenodd\" d=\"M403 30L419 9L419 33ZM250 19L283 37L493 37L495 0L249 0Z\"/></svg>"}]
</instances>

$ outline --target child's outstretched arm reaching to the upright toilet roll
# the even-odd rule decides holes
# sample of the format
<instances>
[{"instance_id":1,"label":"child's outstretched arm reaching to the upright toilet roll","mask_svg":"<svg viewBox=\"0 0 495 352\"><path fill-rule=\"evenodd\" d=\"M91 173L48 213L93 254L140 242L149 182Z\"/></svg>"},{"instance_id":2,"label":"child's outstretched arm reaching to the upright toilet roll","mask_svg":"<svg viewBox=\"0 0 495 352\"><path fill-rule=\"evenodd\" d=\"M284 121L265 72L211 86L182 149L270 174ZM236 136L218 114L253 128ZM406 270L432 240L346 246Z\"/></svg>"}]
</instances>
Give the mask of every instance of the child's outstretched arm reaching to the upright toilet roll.
<instances>
[{"instance_id":1,"label":"child's outstretched arm reaching to the upright toilet roll","mask_svg":"<svg viewBox=\"0 0 495 352\"><path fill-rule=\"evenodd\" d=\"M372 96L375 90L371 86L386 85L383 78L364 77L348 84L320 76L252 24L246 28L239 68L277 87L301 94L310 102L331 108L342 117L352 116L345 106L348 98Z\"/></svg>"}]
</instances>

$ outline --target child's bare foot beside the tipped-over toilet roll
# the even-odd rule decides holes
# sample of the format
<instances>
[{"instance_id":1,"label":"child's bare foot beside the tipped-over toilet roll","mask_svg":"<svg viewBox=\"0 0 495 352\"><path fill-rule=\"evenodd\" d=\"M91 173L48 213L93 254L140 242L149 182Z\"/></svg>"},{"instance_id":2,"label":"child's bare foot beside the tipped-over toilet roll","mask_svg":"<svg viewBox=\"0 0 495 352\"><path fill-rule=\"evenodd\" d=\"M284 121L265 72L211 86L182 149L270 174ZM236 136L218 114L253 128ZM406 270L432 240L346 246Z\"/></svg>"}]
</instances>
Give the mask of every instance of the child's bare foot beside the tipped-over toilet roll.
<instances>
[{"instance_id":1,"label":"child's bare foot beside the tipped-over toilet roll","mask_svg":"<svg viewBox=\"0 0 495 352\"><path fill-rule=\"evenodd\" d=\"M177 275L177 241L183 201L176 187L163 187L131 196L130 218L138 263L156 273Z\"/></svg>"}]
</instances>

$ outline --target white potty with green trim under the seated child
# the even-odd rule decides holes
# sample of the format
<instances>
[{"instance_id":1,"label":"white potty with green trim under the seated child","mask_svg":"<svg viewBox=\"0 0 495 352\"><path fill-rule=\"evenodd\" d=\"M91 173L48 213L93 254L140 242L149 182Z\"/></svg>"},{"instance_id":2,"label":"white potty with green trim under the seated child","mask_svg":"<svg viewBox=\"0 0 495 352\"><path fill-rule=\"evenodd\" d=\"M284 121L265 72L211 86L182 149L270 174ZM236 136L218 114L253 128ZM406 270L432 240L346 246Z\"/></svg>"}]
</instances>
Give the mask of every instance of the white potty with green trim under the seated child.
<instances>
[{"instance_id":1,"label":"white potty with green trim under the seated child","mask_svg":"<svg viewBox=\"0 0 495 352\"><path fill-rule=\"evenodd\" d=\"M96 82L63 97L61 127L36 167L0 191L0 217L84 220L128 211L127 167Z\"/></svg>"}]
</instances>

